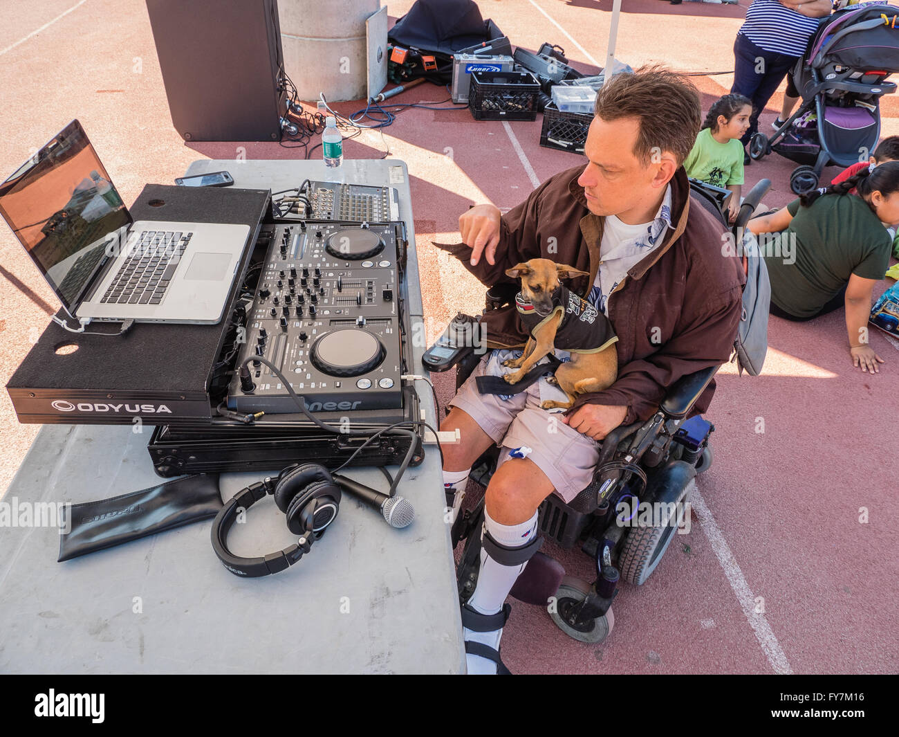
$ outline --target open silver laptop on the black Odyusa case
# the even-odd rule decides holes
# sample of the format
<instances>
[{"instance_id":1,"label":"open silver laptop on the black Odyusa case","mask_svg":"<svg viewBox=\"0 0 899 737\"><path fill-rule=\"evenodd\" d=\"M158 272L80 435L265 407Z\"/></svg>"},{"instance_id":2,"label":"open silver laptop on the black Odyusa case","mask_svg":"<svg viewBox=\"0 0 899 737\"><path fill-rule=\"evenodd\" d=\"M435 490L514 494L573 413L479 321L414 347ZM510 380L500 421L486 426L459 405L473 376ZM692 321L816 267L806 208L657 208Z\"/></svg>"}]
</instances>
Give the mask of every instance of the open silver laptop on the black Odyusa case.
<instances>
[{"instance_id":1,"label":"open silver laptop on the black Odyusa case","mask_svg":"<svg viewBox=\"0 0 899 737\"><path fill-rule=\"evenodd\" d=\"M0 215L82 323L218 322L250 231L134 222L78 121L0 184Z\"/></svg>"}]
</instances>

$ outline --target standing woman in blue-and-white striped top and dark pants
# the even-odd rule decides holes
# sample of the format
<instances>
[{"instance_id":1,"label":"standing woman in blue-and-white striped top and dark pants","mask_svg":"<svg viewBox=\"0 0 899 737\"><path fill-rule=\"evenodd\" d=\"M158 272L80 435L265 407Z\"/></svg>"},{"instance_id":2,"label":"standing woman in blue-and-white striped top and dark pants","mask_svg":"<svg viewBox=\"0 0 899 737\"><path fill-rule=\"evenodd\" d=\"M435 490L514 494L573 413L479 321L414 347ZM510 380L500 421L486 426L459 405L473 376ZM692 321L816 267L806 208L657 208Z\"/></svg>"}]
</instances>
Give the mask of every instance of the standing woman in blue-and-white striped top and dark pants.
<instances>
[{"instance_id":1,"label":"standing woman in blue-and-white striped top and dark pants","mask_svg":"<svg viewBox=\"0 0 899 737\"><path fill-rule=\"evenodd\" d=\"M832 0L752 0L746 20L734 41L734 85L731 92L752 100L749 130L740 142L745 146L759 130L759 114L796 60L806 53L818 19L831 14ZM788 80L783 120L799 94ZM743 159L749 163L749 157Z\"/></svg>"}]
</instances>

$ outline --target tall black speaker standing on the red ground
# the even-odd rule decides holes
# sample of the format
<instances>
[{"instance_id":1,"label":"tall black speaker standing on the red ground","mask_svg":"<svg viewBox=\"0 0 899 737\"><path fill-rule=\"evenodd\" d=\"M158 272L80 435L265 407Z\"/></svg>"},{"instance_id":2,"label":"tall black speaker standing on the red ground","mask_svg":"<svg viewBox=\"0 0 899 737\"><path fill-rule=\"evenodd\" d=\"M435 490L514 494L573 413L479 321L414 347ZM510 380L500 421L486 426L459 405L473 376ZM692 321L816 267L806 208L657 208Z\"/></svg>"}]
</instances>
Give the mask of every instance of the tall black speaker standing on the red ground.
<instances>
[{"instance_id":1,"label":"tall black speaker standing on the red ground","mask_svg":"<svg viewBox=\"0 0 899 737\"><path fill-rule=\"evenodd\" d=\"M147 0L147 12L184 140L280 140L276 0Z\"/></svg>"}]
</instances>

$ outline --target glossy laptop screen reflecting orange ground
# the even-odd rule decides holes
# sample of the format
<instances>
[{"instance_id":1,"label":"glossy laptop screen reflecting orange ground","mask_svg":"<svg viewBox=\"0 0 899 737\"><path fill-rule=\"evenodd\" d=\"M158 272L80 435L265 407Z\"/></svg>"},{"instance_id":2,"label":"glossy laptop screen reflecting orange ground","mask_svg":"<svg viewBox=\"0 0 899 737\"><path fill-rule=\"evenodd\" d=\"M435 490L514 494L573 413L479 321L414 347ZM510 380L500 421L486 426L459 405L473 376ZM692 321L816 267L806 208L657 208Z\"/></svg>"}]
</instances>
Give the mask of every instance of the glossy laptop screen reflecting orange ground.
<instances>
[{"instance_id":1,"label":"glossy laptop screen reflecting orange ground","mask_svg":"<svg viewBox=\"0 0 899 737\"><path fill-rule=\"evenodd\" d=\"M0 215L72 314L132 221L78 121L0 184Z\"/></svg>"}]
</instances>

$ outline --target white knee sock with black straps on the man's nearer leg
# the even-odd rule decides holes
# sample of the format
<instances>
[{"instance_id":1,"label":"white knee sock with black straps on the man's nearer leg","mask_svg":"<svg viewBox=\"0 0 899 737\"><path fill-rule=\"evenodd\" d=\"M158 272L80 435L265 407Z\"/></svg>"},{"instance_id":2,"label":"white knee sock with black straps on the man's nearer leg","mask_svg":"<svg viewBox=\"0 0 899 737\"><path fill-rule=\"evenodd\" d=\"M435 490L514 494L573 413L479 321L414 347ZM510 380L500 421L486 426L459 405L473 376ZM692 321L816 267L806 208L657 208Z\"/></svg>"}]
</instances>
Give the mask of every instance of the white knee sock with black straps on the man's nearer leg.
<instances>
[{"instance_id":1,"label":"white knee sock with black straps on the man's nearer leg","mask_svg":"<svg viewBox=\"0 0 899 737\"><path fill-rule=\"evenodd\" d=\"M537 534L537 513L527 522L520 525L500 525L484 510L484 530L490 533L494 540L505 547L521 547L530 543ZM475 592L468 599L468 606L481 614L496 614L503 608L503 602L509 596L515 580L524 571L527 563L518 565L501 565L494 561L485 548L481 548L481 570L477 576ZM499 651L500 638L503 630L494 632L475 632L467 627L462 628L463 638L467 642L484 643L494 650ZM494 675L496 663L488 661L479 655L467 655L467 670L469 675Z\"/></svg>"}]
</instances>

